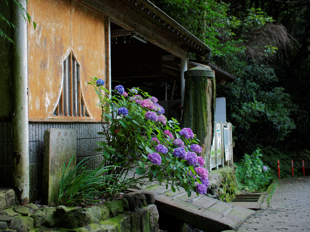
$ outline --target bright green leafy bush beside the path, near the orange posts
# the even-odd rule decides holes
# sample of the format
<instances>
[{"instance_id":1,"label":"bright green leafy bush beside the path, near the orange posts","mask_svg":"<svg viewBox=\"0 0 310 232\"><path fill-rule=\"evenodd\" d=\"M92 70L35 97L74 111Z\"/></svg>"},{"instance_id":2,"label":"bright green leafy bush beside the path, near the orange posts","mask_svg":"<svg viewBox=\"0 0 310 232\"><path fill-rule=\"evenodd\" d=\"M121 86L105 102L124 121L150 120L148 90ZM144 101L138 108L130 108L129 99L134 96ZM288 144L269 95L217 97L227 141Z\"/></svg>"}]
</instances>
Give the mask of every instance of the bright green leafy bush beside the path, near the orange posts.
<instances>
[{"instance_id":1,"label":"bright green leafy bush beside the path, near the orange posts","mask_svg":"<svg viewBox=\"0 0 310 232\"><path fill-rule=\"evenodd\" d=\"M237 164L236 177L238 188L246 191L265 191L271 177L269 167L261 160L262 154L257 148L251 155L245 154Z\"/></svg>"}]
</instances>

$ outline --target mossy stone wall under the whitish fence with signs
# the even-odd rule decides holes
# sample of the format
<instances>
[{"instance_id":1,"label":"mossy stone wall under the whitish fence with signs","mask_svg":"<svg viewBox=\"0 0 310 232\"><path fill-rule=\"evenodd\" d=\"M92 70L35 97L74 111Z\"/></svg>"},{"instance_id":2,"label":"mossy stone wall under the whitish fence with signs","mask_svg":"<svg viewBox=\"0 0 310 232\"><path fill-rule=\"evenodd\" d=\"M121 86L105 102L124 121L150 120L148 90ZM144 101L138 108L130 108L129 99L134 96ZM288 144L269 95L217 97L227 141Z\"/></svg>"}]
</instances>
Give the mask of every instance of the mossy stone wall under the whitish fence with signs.
<instances>
[{"instance_id":1,"label":"mossy stone wall under the whitish fence with signs","mask_svg":"<svg viewBox=\"0 0 310 232\"><path fill-rule=\"evenodd\" d=\"M237 180L235 168L225 166L209 173L208 196L224 202L230 202L236 196Z\"/></svg>"}]
</instances>

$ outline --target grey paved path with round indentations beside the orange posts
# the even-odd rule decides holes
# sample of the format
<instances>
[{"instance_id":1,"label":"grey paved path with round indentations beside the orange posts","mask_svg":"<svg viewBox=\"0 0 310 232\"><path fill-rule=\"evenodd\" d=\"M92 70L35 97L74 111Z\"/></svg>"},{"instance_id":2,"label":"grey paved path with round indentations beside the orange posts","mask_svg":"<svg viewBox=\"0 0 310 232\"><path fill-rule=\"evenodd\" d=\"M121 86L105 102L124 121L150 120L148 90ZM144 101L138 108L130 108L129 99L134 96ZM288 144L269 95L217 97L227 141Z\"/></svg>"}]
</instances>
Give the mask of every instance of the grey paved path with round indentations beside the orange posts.
<instances>
[{"instance_id":1,"label":"grey paved path with round indentations beside the orange posts","mask_svg":"<svg viewBox=\"0 0 310 232\"><path fill-rule=\"evenodd\" d=\"M281 179L269 207L259 211L237 229L261 232L310 231L310 176Z\"/></svg>"}]
</instances>

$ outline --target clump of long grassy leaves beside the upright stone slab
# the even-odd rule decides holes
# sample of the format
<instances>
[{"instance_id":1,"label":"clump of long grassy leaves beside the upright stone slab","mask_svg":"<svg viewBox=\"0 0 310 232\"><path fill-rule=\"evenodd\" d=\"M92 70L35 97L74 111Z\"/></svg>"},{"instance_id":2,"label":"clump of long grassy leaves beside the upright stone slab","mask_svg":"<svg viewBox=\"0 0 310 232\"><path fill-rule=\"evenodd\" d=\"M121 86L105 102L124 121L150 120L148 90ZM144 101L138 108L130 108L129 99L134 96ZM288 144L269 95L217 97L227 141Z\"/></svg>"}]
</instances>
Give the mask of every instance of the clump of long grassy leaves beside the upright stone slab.
<instances>
[{"instance_id":1,"label":"clump of long grassy leaves beside the upright stone slab","mask_svg":"<svg viewBox=\"0 0 310 232\"><path fill-rule=\"evenodd\" d=\"M67 168L64 163L59 194L54 200L55 204L76 206L81 203L94 202L97 196L112 194L117 188L122 189L123 186L120 186L117 182L121 178L120 176L105 175L109 170L117 166L103 167L102 163L95 170L87 170L85 165L90 160L86 161L87 158L85 158L75 168L69 170L73 159L74 156L71 157Z\"/></svg>"}]
</instances>

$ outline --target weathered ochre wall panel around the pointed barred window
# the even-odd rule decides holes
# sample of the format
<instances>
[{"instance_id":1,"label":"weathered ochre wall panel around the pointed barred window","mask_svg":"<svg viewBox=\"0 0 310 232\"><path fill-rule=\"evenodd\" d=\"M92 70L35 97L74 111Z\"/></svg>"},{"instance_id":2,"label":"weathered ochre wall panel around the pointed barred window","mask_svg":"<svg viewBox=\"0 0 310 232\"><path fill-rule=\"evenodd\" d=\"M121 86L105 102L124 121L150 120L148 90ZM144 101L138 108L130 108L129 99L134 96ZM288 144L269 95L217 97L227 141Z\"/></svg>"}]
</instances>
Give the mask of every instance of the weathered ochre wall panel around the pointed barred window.
<instances>
[{"instance_id":1,"label":"weathered ochre wall panel around the pointed barred window","mask_svg":"<svg viewBox=\"0 0 310 232\"><path fill-rule=\"evenodd\" d=\"M90 76L108 86L108 17L71 0L30 0L37 28L28 30L29 121L100 121ZM73 52L80 65L84 104L90 117L52 116L62 88L62 63Z\"/></svg>"}]
</instances>

